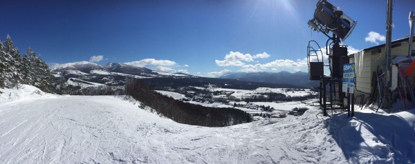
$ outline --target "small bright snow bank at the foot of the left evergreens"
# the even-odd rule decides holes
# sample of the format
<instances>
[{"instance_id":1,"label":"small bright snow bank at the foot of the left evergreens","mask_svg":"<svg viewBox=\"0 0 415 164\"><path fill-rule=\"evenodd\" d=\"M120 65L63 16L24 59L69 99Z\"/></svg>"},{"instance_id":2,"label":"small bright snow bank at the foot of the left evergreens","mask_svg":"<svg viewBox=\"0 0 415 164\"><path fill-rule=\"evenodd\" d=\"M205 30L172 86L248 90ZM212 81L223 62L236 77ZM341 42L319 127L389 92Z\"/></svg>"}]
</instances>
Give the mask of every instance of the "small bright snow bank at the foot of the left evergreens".
<instances>
[{"instance_id":1,"label":"small bright snow bank at the foot of the left evergreens","mask_svg":"<svg viewBox=\"0 0 415 164\"><path fill-rule=\"evenodd\" d=\"M10 101L17 101L21 99L35 99L35 98L53 98L57 97L55 94L48 94L39 90L32 85L20 84L19 89L4 88L0 89L0 103L7 103Z\"/></svg>"}]
</instances>

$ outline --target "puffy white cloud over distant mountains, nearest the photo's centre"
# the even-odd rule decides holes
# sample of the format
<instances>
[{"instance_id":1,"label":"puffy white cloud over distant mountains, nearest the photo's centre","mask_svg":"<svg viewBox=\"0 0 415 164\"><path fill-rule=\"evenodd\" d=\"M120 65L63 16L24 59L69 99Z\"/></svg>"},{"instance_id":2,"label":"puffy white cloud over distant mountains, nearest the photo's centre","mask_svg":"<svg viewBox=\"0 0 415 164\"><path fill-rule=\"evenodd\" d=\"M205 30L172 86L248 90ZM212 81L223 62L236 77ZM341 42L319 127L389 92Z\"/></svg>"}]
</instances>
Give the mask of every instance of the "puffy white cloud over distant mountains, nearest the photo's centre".
<instances>
[{"instance_id":1,"label":"puffy white cloud over distant mountains, nearest the photo's centre","mask_svg":"<svg viewBox=\"0 0 415 164\"><path fill-rule=\"evenodd\" d=\"M245 65L243 62L254 61L254 57L250 54L242 54L241 52L229 52L226 54L223 61L215 60L215 63L219 66L242 66Z\"/></svg>"}]
</instances>

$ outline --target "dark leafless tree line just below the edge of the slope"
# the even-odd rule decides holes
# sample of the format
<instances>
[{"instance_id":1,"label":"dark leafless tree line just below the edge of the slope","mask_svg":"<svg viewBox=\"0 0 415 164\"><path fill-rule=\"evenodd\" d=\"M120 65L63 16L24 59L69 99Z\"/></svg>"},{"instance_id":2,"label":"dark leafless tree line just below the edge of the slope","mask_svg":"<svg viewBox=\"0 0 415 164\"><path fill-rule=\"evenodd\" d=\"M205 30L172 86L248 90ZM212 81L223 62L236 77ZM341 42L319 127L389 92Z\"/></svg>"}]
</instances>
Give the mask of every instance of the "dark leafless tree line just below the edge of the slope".
<instances>
[{"instance_id":1,"label":"dark leafless tree line just below the edge of the slope","mask_svg":"<svg viewBox=\"0 0 415 164\"><path fill-rule=\"evenodd\" d=\"M205 107L172 99L151 90L148 83L140 79L127 79L124 92L140 101L142 107L151 107L158 114L163 114L178 123L223 127L252 121L250 114L242 110L230 107Z\"/></svg>"}]
</instances>

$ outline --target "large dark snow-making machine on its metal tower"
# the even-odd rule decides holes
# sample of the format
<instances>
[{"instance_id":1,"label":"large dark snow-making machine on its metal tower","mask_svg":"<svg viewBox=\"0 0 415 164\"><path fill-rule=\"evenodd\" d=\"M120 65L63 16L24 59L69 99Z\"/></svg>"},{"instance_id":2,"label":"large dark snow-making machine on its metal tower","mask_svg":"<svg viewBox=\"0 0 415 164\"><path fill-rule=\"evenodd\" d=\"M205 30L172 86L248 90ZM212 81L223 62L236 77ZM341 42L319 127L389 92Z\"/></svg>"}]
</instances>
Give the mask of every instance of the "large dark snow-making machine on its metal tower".
<instances>
[{"instance_id":1,"label":"large dark snow-making machine on its metal tower","mask_svg":"<svg viewBox=\"0 0 415 164\"><path fill-rule=\"evenodd\" d=\"M308 75L310 80L320 81L319 103L324 116L327 115L327 110L347 109L344 105L345 94L342 92L342 78L343 64L349 63L349 57L347 57L347 46L340 45L340 41L349 37L356 22L347 17L340 8L333 6L326 0L317 2L314 17L308 21L308 25L314 31L322 32L329 38L326 41L325 53L328 56L328 63L324 63L322 48L316 41L308 41L307 46ZM312 45L317 45L318 49L313 48ZM329 75L324 75L324 67L329 68ZM329 92L326 90L327 85L329 85ZM327 97L327 93L329 93L329 97Z\"/></svg>"}]
</instances>

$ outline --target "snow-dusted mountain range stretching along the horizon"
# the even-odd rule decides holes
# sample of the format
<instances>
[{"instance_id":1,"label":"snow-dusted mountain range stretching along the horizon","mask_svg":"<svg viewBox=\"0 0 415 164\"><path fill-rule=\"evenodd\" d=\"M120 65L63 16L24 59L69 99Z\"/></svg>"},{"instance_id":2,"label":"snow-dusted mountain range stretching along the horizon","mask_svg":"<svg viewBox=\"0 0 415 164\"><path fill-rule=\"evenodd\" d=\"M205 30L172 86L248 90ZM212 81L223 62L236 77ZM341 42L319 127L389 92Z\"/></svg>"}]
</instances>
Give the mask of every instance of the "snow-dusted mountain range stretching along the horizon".
<instances>
[{"instance_id":1,"label":"snow-dusted mountain range stretching along the horizon","mask_svg":"<svg viewBox=\"0 0 415 164\"><path fill-rule=\"evenodd\" d=\"M124 63L115 62L110 62L102 66L97 63L80 61L75 63L55 64L51 65L50 68L52 74L55 77L57 77L57 83L60 83L59 81L66 81L68 85L79 85L80 83L82 83L82 88L86 88L89 86L98 86L100 84L109 86L124 85L125 79L127 77L145 79L146 81L151 81L153 85L156 85L158 87L167 87L172 85L176 85L176 87L182 85L199 86L210 84L226 86L226 88L234 89L256 89L259 87L304 88L310 86L293 85L292 81L269 82L267 79L269 79L270 77L267 76L258 77L260 79L264 79L264 81L260 80L253 82L249 79L232 78L232 76L222 76L221 78L206 78L183 73L159 72L156 70L150 70L148 68L140 68L134 65L127 65ZM295 77L296 76L293 75L293 78ZM306 77L308 77L308 75ZM282 78L290 79L290 77L288 76L284 76ZM308 79L302 78L301 81L302 80L308 82ZM300 81L300 79L297 78L293 81Z\"/></svg>"}]
</instances>

